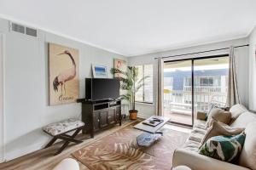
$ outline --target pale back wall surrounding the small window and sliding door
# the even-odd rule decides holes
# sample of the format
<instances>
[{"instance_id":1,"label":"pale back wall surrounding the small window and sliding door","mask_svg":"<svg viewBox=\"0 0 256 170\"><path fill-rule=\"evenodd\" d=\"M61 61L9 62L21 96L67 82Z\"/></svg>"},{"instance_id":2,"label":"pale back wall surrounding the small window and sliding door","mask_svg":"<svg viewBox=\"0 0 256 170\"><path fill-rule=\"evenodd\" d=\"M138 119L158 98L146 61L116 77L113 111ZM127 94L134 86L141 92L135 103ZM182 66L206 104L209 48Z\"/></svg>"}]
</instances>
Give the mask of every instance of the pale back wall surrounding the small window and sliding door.
<instances>
[{"instance_id":1,"label":"pale back wall surrounding the small window and sliding door","mask_svg":"<svg viewBox=\"0 0 256 170\"><path fill-rule=\"evenodd\" d=\"M229 48L231 45L244 45L248 43L247 38L236 39L232 41L226 42L217 42L207 45L195 46L191 48L180 48L176 50L170 50L161 53L155 54L144 54L135 57L128 58L128 65L145 65L145 64L154 64L155 57L166 57L172 56L176 54L188 54L188 53L195 53L205 50L217 49L217 48ZM201 56L209 56L214 54L228 54L229 50L222 50L216 51L211 53L205 54L196 54L196 55L187 55L181 57L174 57L169 59L185 59L185 58L192 58L192 57L201 57ZM248 48L236 48L235 49L236 59L237 59L237 79L238 79L238 86L239 86L239 94L241 96L241 103L243 105L248 105L248 92L247 92L247 82L248 82ZM154 66L154 72L156 72L156 67ZM154 92L156 92L156 77L154 79ZM153 105L145 105L145 104L137 104L138 115L142 117L148 117L154 115L155 112L155 93L154 95L154 104Z\"/></svg>"}]
</instances>

